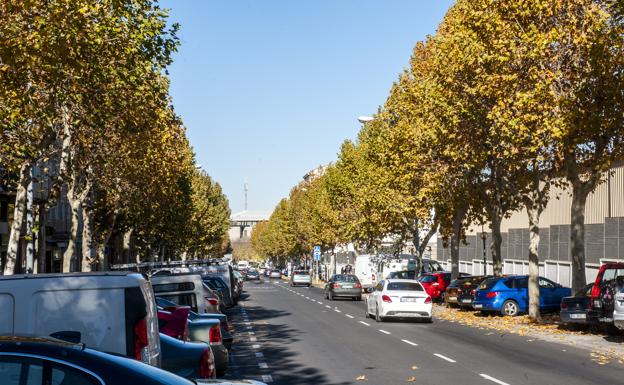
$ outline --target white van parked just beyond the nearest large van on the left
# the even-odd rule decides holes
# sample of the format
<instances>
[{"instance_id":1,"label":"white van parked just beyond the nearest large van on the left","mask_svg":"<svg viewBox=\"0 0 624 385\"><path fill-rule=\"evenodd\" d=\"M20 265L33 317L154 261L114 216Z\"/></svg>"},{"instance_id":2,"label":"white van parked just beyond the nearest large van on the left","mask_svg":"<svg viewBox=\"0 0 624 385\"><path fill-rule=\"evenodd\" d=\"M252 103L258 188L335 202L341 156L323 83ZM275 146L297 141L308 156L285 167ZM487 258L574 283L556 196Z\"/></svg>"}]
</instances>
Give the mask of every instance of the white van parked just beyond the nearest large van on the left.
<instances>
[{"instance_id":1,"label":"white van parked just beyond the nearest large van on the left","mask_svg":"<svg viewBox=\"0 0 624 385\"><path fill-rule=\"evenodd\" d=\"M207 313L204 282L199 274L153 275L150 278L154 295L196 313Z\"/></svg>"}]
</instances>

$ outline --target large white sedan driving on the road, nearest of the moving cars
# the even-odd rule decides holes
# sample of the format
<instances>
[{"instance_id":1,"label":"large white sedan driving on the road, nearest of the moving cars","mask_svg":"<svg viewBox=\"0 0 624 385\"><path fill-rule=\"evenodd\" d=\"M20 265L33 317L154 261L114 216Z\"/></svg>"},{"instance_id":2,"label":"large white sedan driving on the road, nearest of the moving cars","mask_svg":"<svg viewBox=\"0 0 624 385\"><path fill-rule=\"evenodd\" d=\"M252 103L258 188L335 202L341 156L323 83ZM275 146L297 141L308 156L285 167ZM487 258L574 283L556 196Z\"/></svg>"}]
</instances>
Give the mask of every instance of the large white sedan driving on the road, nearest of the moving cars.
<instances>
[{"instance_id":1,"label":"large white sedan driving on the road, nearest of the moving cars","mask_svg":"<svg viewBox=\"0 0 624 385\"><path fill-rule=\"evenodd\" d=\"M431 297L418 281L385 279L368 290L366 317L377 322L387 318L418 318L431 322Z\"/></svg>"}]
</instances>

